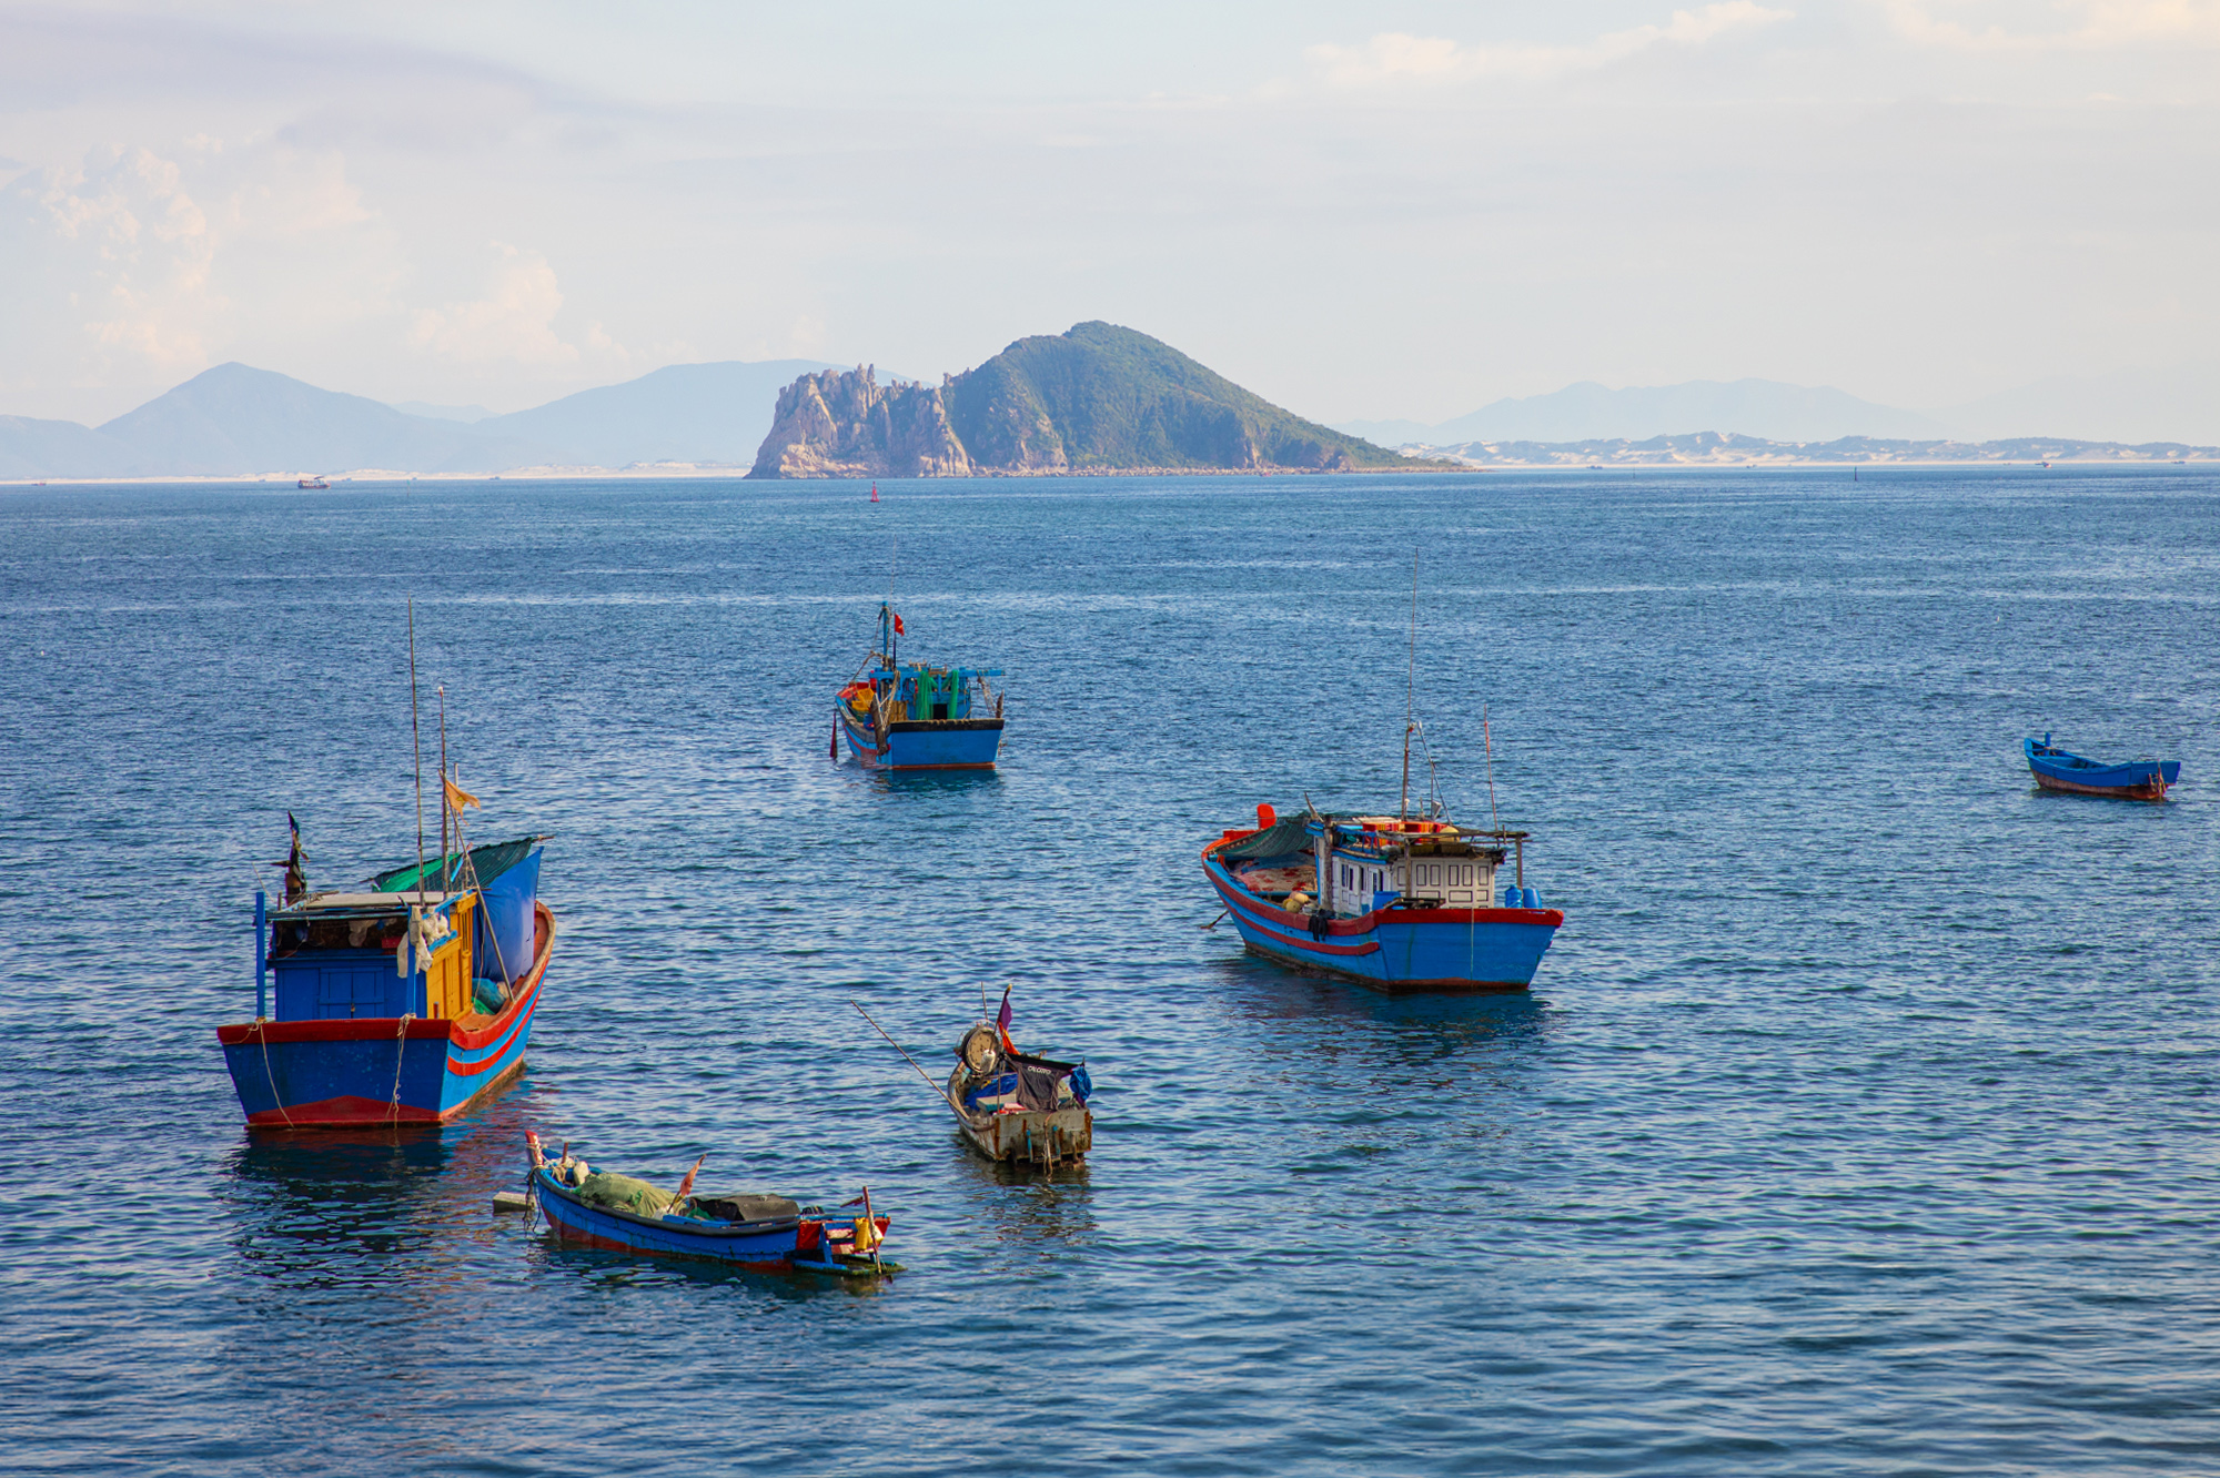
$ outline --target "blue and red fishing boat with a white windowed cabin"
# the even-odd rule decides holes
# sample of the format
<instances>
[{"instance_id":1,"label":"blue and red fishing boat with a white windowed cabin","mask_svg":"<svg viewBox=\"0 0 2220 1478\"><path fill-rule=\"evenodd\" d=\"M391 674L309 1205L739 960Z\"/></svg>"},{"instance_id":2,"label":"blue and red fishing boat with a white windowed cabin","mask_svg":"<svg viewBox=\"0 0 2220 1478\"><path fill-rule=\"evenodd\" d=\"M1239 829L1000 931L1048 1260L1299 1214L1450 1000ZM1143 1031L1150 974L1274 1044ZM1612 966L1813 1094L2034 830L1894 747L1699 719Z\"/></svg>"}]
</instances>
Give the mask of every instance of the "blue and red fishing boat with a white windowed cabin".
<instances>
[{"instance_id":1,"label":"blue and red fishing boat with a white windowed cabin","mask_svg":"<svg viewBox=\"0 0 2220 1478\"><path fill-rule=\"evenodd\" d=\"M1439 817L1281 821L1259 806L1254 828L1203 848L1203 874L1250 952L1285 965L1388 994L1527 990L1565 914L1525 885L1525 843Z\"/></svg>"}]
</instances>

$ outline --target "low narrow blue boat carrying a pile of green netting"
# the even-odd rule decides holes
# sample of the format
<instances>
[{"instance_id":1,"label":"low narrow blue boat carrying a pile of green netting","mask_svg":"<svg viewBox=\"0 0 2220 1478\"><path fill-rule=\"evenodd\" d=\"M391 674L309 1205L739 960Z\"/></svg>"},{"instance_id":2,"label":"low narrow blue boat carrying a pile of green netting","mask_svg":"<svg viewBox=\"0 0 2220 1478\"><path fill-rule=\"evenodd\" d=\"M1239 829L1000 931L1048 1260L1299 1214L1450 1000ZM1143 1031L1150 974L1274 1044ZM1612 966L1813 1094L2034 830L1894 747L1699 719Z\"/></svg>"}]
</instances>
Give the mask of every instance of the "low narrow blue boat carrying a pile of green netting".
<instances>
[{"instance_id":1,"label":"low narrow blue boat carrying a pile of green netting","mask_svg":"<svg viewBox=\"0 0 2220 1478\"><path fill-rule=\"evenodd\" d=\"M524 1136L531 1185L548 1229L564 1243L604 1252L699 1258L750 1272L806 1272L879 1278L901 1272L879 1256L888 1218L859 1198L861 1216L826 1216L786 1196L693 1196L693 1172L677 1196L630 1176L595 1174L568 1147L551 1161L539 1136ZM695 1163L699 1170L699 1163ZM630 1194L628 1194L630 1192ZM855 1205L855 1203L850 1203Z\"/></svg>"}]
</instances>

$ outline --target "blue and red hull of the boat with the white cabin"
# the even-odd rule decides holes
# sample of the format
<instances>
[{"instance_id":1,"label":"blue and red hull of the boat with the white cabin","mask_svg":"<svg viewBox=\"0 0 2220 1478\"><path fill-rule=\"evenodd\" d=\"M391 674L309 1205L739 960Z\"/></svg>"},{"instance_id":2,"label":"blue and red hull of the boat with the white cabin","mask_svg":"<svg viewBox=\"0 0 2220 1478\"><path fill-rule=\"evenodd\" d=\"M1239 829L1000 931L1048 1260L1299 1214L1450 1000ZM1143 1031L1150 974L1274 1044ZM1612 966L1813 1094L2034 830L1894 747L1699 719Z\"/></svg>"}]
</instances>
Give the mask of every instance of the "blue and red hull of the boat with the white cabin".
<instances>
[{"instance_id":1,"label":"blue and red hull of the boat with the white cabin","mask_svg":"<svg viewBox=\"0 0 2220 1478\"><path fill-rule=\"evenodd\" d=\"M1554 908L1374 910L1336 919L1319 939L1308 919L1259 899L1214 857L1203 857L1203 872L1252 952L1390 994L1527 990L1565 923Z\"/></svg>"}]
</instances>

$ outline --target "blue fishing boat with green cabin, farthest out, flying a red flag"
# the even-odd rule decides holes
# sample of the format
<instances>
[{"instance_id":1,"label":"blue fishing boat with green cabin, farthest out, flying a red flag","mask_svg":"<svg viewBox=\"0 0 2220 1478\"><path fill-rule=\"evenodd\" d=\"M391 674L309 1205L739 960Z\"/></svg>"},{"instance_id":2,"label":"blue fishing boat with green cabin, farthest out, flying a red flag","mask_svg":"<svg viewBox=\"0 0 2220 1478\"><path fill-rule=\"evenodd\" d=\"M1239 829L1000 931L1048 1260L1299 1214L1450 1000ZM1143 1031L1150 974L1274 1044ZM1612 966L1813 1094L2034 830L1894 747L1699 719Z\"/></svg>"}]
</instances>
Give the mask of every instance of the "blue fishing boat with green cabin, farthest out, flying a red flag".
<instances>
[{"instance_id":1,"label":"blue fishing boat with green cabin, farthest out, flying a red flag","mask_svg":"<svg viewBox=\"0 0 2220 1478\"><path fill-rule=\"evenodd\" d=\"M846 732L872 770L992 770L1003 695L988 679L1001 670L904 664L904 635L895 608L879 606L879 648L833 701L833 759Z\"/></svg>"}]
</instances>

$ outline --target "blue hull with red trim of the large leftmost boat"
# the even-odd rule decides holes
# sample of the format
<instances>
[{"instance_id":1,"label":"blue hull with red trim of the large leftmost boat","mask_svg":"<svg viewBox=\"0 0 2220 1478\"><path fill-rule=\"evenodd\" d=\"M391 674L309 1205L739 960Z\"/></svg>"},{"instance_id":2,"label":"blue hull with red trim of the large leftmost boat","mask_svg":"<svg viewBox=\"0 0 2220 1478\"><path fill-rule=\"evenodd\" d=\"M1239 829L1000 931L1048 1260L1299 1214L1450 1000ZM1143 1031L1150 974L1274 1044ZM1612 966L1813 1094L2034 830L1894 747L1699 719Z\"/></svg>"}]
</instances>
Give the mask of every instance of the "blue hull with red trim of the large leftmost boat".
<instances>
[{"instance_id":1,"label":"blue hull with red trim of the large leftmost boat","mask_svg":"<svg viewBox=\"0 0 2220 1478\"><path fill-rule=\"evenodd\" d=\"M553 954L480 1030L444 1019L246 1021L215 1030L246 1123L271 1130L448 1123L524 1070Z\"/></svg>"}]
</instances>

